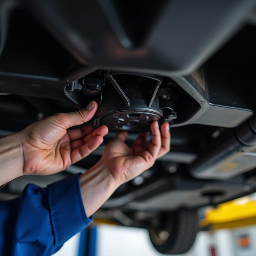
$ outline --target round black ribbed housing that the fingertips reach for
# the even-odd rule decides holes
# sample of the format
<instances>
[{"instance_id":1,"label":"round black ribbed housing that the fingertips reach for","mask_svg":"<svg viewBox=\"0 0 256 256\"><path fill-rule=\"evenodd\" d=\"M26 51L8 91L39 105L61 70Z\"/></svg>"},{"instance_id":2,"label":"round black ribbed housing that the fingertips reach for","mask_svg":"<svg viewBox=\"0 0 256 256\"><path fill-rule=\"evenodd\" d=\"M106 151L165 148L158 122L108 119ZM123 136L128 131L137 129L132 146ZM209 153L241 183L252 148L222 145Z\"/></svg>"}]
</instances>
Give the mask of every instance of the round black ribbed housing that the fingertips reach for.
<instances>
[{"instance_id":1,"label":"round black ribbed housing that the fingertips reach for","mask_svg":"<svg viewBox=\"0 0 256 256\"><path fill-rule=\"evenodd\" d=\"M168 89L159 90L162 79L149 74L108 72L94 126L145 132L153 121L170 122L176 118Z\"/></svg>"}]
</instances>

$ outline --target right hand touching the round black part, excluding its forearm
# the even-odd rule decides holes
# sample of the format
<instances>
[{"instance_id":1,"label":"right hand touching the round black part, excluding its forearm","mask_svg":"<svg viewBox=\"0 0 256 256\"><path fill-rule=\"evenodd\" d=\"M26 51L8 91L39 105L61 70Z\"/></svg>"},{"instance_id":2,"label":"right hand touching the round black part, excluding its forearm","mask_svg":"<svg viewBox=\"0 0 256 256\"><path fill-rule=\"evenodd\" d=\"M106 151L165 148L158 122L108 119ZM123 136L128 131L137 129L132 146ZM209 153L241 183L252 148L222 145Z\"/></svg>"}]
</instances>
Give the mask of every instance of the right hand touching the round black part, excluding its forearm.
<instances>
[{"instance_id":1,"label":"right hand touching the round black part, excluding its forearm","mask_svg":"<svg viewBox=\"0 0 256 256\"><path fill-rule=\"evenodd\" d=\"M151 124L152 140L146 144L148 133L141 133L131 147L125 144L127 132L120 132L104 149L100 162L111 172L114 180L122 184L150 168L157 158L170 151L169 124Z\"/></svg>"}]
</instances>

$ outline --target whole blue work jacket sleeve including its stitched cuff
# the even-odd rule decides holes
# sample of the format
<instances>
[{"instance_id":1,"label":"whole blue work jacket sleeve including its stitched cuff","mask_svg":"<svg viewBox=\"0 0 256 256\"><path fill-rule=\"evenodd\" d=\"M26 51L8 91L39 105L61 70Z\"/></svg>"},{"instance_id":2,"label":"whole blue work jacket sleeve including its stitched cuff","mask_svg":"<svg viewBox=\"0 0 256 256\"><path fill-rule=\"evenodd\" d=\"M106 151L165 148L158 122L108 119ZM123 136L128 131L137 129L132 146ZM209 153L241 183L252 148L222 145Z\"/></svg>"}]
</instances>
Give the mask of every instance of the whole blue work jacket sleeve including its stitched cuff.
<instances>
[{"instance_id":1,"label":"whole blue work jacket sleeve including its stitched cuff","mask_svg":"<svg viewBox=\"0 0 256 256\"><path fill-rule=\"evenodd\" d=\"M79 175L0 202L0 255L47 256L92 222L83 207Z\"/></svg>"}]
</instances>

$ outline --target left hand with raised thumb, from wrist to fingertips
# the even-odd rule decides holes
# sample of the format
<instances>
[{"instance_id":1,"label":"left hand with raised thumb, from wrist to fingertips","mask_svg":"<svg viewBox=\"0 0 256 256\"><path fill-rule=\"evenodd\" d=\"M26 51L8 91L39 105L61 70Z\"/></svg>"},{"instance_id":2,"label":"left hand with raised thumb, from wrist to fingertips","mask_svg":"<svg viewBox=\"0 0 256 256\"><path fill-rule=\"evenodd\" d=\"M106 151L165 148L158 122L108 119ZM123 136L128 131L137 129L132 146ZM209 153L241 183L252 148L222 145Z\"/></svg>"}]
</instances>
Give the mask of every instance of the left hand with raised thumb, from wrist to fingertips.
<instances>
[{"instance_id":1,"label":"left hand with raised thumb, from wrist to fingertips","mask_svg":"<svg viewBox=\"0 0 256 256\"><path fill-rule=\"evenodd\" d=\"M108 133L106 126L94 130L92 125L67 130L89 121L97 110L91 101L87 108L58 113L29 125L21 132L24 174L57 173L88 156Z\"/></svg>"}]
</instances>

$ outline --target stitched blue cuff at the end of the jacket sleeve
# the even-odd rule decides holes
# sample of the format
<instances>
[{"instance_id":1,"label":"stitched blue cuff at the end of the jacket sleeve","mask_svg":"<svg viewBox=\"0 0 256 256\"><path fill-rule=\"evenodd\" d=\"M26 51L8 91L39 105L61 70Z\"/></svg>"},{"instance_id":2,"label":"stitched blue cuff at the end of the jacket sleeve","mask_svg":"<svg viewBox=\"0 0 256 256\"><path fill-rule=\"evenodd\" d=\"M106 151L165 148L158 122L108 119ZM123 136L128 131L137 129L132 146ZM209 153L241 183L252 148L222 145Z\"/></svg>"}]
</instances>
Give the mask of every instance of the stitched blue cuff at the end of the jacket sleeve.
<instances>
[{"instance_id":1,"label":"stitched blue cuff at the end of the jacket sleeve","mask_svg":"<svg viewBox=\"0 0 256 256\"><path fill-rule=\"evenodd\" d=\"M93 221L93 216L88 218L84 210L79 175L48 185L55 246L61 246Z\"/></svg>"}]
</instances>

